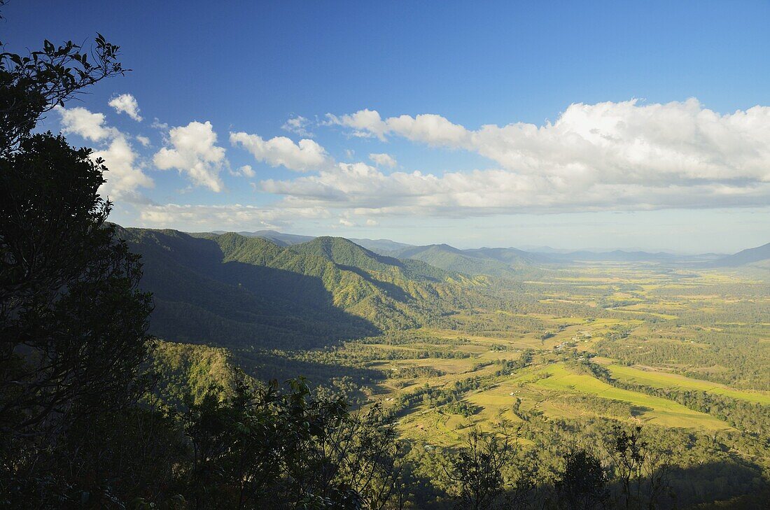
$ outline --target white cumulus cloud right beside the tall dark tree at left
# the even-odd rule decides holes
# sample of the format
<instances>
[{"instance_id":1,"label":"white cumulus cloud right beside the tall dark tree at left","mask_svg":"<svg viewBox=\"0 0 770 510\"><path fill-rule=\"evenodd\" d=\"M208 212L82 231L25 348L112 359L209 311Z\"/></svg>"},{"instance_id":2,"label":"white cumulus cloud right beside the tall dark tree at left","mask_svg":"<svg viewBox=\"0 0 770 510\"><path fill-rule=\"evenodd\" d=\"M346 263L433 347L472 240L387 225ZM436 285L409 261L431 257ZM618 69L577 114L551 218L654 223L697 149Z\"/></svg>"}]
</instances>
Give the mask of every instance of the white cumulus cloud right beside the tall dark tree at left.
<instances>
[{"instance_id":1,"label":"white cumulus cloud right beside the tall dark tree at left","mask_svg":"<svg viewBox=\"0 0 770 510\"><path fill-rule=\"evenodd\" d=\"M62 132L65 135L79 135L92 142L98 142L92 158L103 158L109 172L107 182L99 188L102 195L126 202L146 202L137 188L152 188L153 182L142 170L139 154L129 142L128 136L116 128L105 125L105 116L89 112L86 108L63 108L55 111L61 115Z\"/></svg>"}]
</instances>

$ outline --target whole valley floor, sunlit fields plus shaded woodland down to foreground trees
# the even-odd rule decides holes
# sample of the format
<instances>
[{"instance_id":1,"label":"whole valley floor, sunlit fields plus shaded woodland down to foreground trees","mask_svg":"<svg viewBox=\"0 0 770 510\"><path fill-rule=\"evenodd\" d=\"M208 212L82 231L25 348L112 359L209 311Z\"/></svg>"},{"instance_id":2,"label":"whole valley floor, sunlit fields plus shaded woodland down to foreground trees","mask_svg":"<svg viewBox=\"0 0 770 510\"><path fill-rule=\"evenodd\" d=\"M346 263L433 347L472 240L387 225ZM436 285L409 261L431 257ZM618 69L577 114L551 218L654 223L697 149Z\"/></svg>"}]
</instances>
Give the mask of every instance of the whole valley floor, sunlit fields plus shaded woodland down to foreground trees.
<instances>
[{"instance_id":1,"label":"whole valley floor, sunlit fields plus shaded woodland down to foreground trees","mask_svg":"<svg viewBox=\"0 0 770 510\"><path fill-rule=\"evenodd\" d=\"M472 298L417 328L229 351L263 381L300 374L353 412L379 408L408 445L417 508L451 508L446 462L471 431L510 435L517 462L547 481L574 448L609 465L614 431L639 427L675 466L677 508L765 494L770 285L761 269L602 262L473 285Z\"/></svg>"}]
</instances>

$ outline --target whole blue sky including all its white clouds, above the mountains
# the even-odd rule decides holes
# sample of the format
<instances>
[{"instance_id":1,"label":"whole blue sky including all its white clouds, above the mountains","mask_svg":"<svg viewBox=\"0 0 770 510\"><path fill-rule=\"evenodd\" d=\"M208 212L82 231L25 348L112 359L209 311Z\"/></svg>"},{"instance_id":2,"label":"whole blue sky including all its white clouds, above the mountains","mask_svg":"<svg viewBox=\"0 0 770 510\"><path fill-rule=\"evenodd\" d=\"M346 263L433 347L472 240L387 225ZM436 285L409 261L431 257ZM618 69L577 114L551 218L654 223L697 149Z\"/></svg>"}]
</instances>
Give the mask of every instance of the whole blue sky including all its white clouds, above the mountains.
<instances>
[{"instance_id":1,"label":"whole blue sky including all its white clouds, above the mountains","mask_svg":"<svg viewBox=\"0 0 770 510\"><path fill-rule=\"evenodd\" d=\"M0 22L13 51L122 46L133 71L42 126L105 155L122 225L770 241L768 2L181 5L17 0Z\"/></svg>"}]
</instances>

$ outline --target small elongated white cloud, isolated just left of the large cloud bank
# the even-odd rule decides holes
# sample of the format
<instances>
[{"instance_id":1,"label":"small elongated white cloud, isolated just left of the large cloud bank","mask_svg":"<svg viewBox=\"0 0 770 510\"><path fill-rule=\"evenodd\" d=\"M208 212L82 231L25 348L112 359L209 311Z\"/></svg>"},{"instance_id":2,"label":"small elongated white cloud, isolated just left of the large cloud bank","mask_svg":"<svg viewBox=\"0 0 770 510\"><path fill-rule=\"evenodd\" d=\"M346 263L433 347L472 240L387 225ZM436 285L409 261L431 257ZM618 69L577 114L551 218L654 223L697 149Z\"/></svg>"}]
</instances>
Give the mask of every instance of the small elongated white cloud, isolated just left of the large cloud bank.
<instances>
[{"instance_id":1,"label":"small elongated white cloud, isolated just left of the large cloud bank","mask_svg":"<svg viewBox=\"0 0 770 510\"><path fill-rule=\"evenodd\" d=\"M230 143L245 148L259 162L266 162L271 166L283 165L297 172L324 168L331 162L326 149L307 138L295 144L285 136L263 140L259 135L239 132L230 133Z\"/></svg>"}]
</instances>

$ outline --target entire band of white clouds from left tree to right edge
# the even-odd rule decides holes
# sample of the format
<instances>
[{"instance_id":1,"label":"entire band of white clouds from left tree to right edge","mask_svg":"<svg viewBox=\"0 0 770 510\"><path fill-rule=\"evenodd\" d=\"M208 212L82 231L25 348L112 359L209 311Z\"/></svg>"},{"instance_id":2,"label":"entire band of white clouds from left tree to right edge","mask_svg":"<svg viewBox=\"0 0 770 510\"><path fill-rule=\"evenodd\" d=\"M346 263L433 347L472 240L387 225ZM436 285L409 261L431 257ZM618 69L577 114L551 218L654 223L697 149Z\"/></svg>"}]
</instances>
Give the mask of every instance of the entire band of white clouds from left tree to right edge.
<instances>
[{"instance_id":1,"label":"entire band of white clouds from left tree to right edge","mask_svg":"<svg viewBox=\"0 0 770 510\"><path fill-rule=\"evenodd\" d=\"M141 126L130 94L109 106ZM385 216L467 218L558 212L643 211L665 208L743 208L770 205L770 107L720 114L695 98L683 102L569 105L554 122L515 122L466 128L434 114L383 118L376 110L327 114L323 121L295 115L284 131L263 138L249 132L220 136L211 122L159 129L146 135L107 124L101 112L56 108L62 132L95 144L109 167L104 194L136 208L148 226L239 228L290 225L293 218L332 218L339 225L377 225ZM312 139L328 130L343 139L371 138L366 158L335 157ZM404 168L391 142L463 151L484 168L423 172ZM229 145L228 145L229 142ZM229 155L246 152L253 164L280 168L262 178L259 167L231 168ZM157 203L142 194L162 171L175 169L189 189L213 198L227 191L223 175L243 179L254 203L184 204L184 195ZM227 172L227 174L223 172ZM248 182L248 184L246 184ZM238 185L240 186L240 185ZM259 205L257 204L259 197ZM266 200L271 202L265 203ZM241 201L244 202L244 201Z\"/></svg>"}]
</instances>

